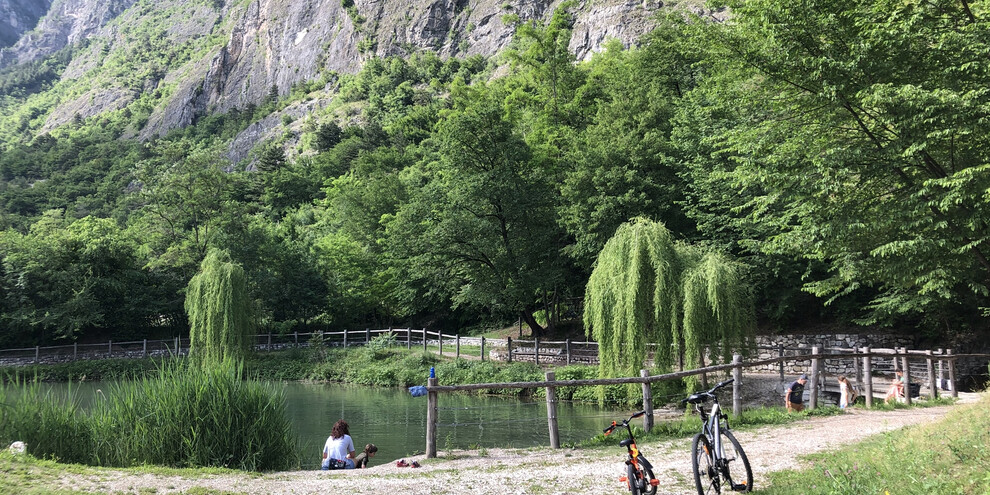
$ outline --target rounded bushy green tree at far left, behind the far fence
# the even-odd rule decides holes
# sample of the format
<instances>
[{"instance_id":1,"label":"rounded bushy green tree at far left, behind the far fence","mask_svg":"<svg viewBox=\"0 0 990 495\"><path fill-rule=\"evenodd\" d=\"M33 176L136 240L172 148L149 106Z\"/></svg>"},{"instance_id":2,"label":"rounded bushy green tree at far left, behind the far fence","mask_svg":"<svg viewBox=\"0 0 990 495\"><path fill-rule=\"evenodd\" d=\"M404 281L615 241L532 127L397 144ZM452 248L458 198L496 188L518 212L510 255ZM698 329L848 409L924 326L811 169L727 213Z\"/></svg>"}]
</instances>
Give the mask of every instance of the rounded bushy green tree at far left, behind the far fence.
<instances>
[{"instance_id":1,"label":"rounded bushy green tree at far left, behind the far fence","mask_svg":"<svg viewBox=\"0 0 990 495\"><path fill-rule=\"evenodd\" d=\"M144 269L135 238L113 220L51 210L22 235L0 235L0 321L23 341L133 336L170 314L167 284Z\"/></svg>"}]
</instances>

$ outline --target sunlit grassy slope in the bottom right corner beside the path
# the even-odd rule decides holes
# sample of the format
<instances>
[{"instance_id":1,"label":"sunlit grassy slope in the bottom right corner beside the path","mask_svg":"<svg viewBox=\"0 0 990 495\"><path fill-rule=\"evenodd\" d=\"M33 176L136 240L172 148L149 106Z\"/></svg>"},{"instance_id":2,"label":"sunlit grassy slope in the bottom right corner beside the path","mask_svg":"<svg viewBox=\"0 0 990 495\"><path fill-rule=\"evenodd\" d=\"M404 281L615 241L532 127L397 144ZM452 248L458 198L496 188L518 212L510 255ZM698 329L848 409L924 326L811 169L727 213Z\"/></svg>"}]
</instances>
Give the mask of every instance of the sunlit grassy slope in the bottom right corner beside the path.
<instances>
[{"instance_id":1,"label":"sunlit grassy slope in the bottom right corner beside the path","mask_svg":"<svg viewBox=\"0 0 990 495\"><path fill-rule=\"evenodd\" d=\"M856 432L849 432L855 435ZM990 493L990 395L941 421L808 456L801 471L770 475L767 495Z\"/></svg>"}]
</instances>

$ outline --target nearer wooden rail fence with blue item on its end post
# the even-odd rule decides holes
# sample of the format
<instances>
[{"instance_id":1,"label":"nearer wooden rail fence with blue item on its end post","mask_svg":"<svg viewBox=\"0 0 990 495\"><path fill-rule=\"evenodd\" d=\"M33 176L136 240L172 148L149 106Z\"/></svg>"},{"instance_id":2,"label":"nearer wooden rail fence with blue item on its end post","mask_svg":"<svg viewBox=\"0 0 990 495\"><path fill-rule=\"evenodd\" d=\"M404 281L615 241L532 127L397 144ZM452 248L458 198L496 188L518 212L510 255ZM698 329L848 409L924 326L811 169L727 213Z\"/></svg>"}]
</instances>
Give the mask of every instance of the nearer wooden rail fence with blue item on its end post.
<instances>
[{"instance_id":1,"label":"nearer wooden rail fence with blue item on its end post","mask_svg":"<svg viewBox=\"0 0 990 495\"><path fill-rule=\"evenodd\" d=\"M808 373L809 376L809 387L806 391L809 393L808 407L809 409L815 409L818 407L818 395L821 391L825 390L825 379L826 375L824 372L823 362L826 359L852 359L854 362L860 362L862 364L862 377L857 374L856 381L860 383L863 390L863 396L866 399L866 407L873 407L874 401L874 389L873 389L873 372L876 368L876 362L885 362L892 360L895 364L894 366L899 366L899 369L905 371L905 391L911 390L911 377L912 377L912 366L911 361L924 361L925 370L927 374L927 381L929 384L929 394L931 397L938 396L938 390L941 381L936 381L935 377L935 365L936 362L944 362L945 369L948 372L947 388L951 391L952 397L958 397L958 392L956 390L956 376L955 376L955 361L960 358L987 358L990 357L988 354L954 354L951 349L947 349L944 354L936 355L932 351L908 351L906 349L890 349L890 350L871 350L869 347L864 347L862 349L842 349L843 353L831 353L825 354L822 351L825 350L819 347L812 347L811 354L794 355L794 356L780 356L776 358L755 360L745 362L742 360L742 356L736 354L733 356L732 363L723 364L717 366L708 366L704 368L698 368L694 370L679 371L676 373L666 373L663 375L653 375L651 376L646 370L640 371L640 376L637 377L624 377L624 378L603 378L603 379L591 379L591 380L556 380L553 371L546 372L546 379L544 381L538 382L509 382L509 383L476 383L469 385L438 385L437 378L430 377L427 381L427 411L426 411L426 457L432 458L437 455L437 417L438 417L438 404L439 404L439 394L441 392L458 392L458 391L468 391L468 390L490 390L490 389L506 389L506 388L545 388L546 389L546 401L547 401L547 427L550 433L550 445L553 448L560 447L560 439L557 434L557 399L556 399L556 389L558 387L575 387L575 386L598 386L598 385L620 385L628 383L639 383L643 386L643 409L646 414L643 416L643 429L647 432L653 428L653 394L651 390L651 384L656 382L662 382L666 380L681 379L688 376L701 375L702 380L705 380L705 375L710 373L720 373L720 372L731 372L735 381L732 384L732 414L738 417L742 413L742 396L740 394L740 386L742 384L742 370L745 368L754 368L759 366L765 366L767 364L782 363L783 361L805 361L810 363L811 372ZM830 351L835 351L835 349L829 349ZM941 368L941 365L939 365ZM783 379L783 375L781 376ZM911 394L904 394L905 401L911 403Z\"/></svg>"}]
</instances>

